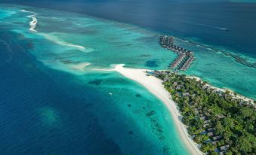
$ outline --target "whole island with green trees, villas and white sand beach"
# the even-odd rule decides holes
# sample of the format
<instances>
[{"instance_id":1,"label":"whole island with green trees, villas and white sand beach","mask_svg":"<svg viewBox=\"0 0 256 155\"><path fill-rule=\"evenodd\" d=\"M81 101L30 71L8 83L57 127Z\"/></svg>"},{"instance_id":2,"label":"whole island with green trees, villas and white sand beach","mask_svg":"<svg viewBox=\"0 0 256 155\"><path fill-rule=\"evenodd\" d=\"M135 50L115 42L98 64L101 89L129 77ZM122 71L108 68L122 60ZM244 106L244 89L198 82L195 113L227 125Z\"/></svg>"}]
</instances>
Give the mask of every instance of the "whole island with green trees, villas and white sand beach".
<instances>
[{"instance_id":1,"label":"whole island with green trees, villas and white sand beach","mask_svg":"<svg viewBox=\"0 0 256 155\"><path fill-rule=\"evenodd\" d=\"M113 70L162 100L191 154L255 153L255 100L174 71Z\"/></svg>"}]
</instances>

